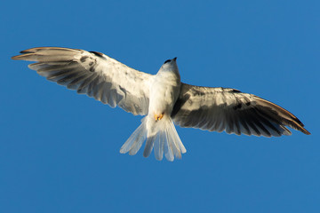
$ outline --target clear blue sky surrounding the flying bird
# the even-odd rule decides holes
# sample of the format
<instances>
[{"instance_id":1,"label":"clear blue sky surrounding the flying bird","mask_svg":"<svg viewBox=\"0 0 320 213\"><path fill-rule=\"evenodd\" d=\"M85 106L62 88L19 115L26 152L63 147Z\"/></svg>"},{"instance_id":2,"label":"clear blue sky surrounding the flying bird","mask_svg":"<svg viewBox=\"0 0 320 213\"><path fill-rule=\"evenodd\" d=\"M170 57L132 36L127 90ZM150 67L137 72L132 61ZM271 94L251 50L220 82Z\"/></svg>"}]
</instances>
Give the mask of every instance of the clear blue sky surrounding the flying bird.
<instances>
[{"instance_id":1,"label":"clear blue sky surrounding the flying bird","mask_svg":"<svg viewBox=\"0 0 320 213\"><path fill-rule=\"evenodd\" d=\"M319 1L3 1L0 212L320 212ZM312 133L257 138L177 127L188 152L119 154L140 116L10 59L36 46L101 51L156 74L236 88Z\"/></svg>"}]
</instances>

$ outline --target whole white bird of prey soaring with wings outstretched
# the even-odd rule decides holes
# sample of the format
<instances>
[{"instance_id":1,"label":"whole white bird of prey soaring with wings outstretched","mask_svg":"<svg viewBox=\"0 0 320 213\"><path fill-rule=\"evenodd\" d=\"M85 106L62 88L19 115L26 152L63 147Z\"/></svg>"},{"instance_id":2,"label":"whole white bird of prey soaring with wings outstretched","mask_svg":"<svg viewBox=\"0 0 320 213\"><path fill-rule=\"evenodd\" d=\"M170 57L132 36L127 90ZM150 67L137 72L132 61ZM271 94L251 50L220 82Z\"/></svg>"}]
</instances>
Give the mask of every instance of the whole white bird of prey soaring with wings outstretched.
<instances>
[{"instance_id":1,"label":"whole white bird of prey soaring with wings outstretched","mask_svg":"<svg viewBox=\"0 0 320 213\"><path fill-rule=\"evenodd\" d=\"M121 147L122 154L137 154L146 141L145 157L154 149L156 160L181 158L186 148L174 124L236 135L291 135L286 126L310 134L296 116L266 99L230 88L181 83L177 58L149 75L97 51L36 47L20 53L12 59L36 61L28 67L49 81L146 115Z\"/></svg>"}]
</instances>

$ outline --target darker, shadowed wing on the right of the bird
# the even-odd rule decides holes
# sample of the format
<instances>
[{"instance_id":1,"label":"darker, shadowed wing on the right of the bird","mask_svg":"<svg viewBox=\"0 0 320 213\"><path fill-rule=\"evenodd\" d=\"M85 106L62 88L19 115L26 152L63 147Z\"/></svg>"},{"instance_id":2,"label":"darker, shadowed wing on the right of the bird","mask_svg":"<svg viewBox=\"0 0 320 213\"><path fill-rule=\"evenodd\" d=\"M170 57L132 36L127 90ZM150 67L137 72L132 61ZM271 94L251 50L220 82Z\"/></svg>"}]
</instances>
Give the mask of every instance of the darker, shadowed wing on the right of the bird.
<instances>
[{"instance_id":1,"label":"darker, shadowed wing on the right of the bird","mask_svg":"<svg viewBox=\"0 0 320 213\"><path fill-rule=\"evenodd\" d=\"M225 130L237 135L291 135L285 126L310 134L296 116L268 100L234 89L186 83L181 83L180 97L173 107L172 119L181 127Z\"/></svg>"}]
</instances>

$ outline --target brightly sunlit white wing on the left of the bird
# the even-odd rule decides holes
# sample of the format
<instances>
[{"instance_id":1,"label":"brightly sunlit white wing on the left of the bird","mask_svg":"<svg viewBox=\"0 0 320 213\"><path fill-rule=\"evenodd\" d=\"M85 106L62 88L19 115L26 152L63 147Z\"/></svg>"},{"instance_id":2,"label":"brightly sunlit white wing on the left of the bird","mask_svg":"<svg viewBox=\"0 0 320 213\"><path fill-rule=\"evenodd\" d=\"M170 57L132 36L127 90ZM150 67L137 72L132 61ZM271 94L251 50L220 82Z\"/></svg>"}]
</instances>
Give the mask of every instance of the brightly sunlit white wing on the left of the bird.
<instances>
[{"instance_id":1,"label":"brightly sunlit white wing on the left of the bird","mask_svg":"<svg viewBox=\"0 0 320 213\"><path fill-rule=\"evenodd\" d=\"M28 67L49 81L85 93L132 114L148 114L152 75L142 73L96 51L37 47L12 59L37 61Z\"/></svg>"}]
</instances>

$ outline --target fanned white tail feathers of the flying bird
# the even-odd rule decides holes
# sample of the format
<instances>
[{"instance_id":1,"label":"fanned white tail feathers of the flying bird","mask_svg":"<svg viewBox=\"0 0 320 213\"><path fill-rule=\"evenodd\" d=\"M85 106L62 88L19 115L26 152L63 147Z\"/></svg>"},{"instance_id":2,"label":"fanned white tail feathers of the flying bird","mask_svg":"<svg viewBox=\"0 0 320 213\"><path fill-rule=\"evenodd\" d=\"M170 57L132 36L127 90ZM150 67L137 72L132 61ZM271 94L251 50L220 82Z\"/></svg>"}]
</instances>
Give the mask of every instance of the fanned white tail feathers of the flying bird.
<instances>
[{"instance_id":1,"label":"fanned white tail feathers of the flying bird","mask_svg":"<svg viewBox=\"0 0 320 213\"><path fill-rule=\"evenodd\" d=\"M155 148L156 160L161 161L165 156L168 161L172 162L174 156L181 158L181 153L187 152L170 117L164 116L162 120L155 121L154 118L146 116L141 120L137 130L125 141L120 153L137 154L146 138L143 152L145 157L148 157Z\"/></svg>"}]
</instances>

